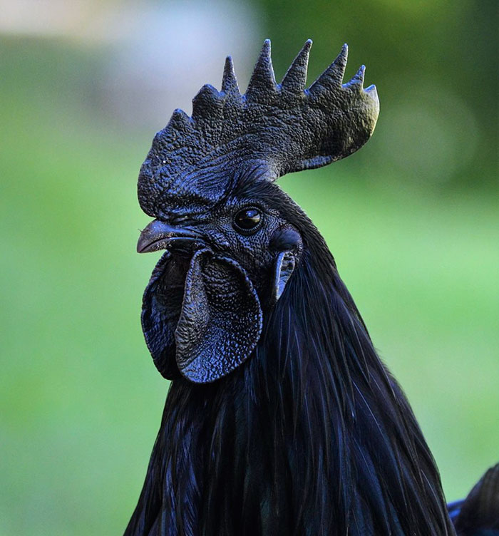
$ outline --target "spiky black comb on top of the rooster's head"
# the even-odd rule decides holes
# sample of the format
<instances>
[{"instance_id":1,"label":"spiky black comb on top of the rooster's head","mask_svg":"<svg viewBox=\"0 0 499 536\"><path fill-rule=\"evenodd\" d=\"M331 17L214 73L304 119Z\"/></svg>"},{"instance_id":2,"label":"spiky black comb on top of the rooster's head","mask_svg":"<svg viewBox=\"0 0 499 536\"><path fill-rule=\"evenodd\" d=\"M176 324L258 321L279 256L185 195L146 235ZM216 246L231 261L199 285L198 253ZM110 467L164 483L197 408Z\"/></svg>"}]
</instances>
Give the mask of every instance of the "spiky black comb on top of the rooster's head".
<instances>
[{"instance_id":1,"label":"spiky black comb on top of the rooster's head","mask_svg":"<svg viewBox=\"0 0 499 536\"><path fill-rule=\"evenodd\" d=\"M138 197L149 215L204 212L227 195L237 177L275 180L319 168L361 148L379 113L375 86L363 87L365 67L343 83L346 44L307 88L308 40L276 83L270 41L264 41L246 93L227 57L222 87L203 86L192 116L175 110L155 135L140 170Z\"/></svg>"}]
</instances>

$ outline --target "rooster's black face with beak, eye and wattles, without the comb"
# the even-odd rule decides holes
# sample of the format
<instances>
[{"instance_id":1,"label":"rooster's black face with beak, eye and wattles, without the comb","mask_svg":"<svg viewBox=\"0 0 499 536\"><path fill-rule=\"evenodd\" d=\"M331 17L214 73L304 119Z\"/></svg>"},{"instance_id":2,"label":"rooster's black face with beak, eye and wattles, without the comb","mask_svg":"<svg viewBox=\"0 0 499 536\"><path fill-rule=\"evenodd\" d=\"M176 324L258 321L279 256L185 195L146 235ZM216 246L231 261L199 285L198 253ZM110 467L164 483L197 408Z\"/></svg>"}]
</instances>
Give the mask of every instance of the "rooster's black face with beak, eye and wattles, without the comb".
<instances>
[{"instance_id":1,"label":"rooster's black face with beak, eye and wattles, without the comb","mask_svg":"<svg viewBox=\"0 0 499 536\"><path fill-rule=\"evenodd\" d=\"M251 354L302 239L262 197L233 195L207 217L153 220L138 251L158 249L166 252L144 294L145 339L163 376L207 383Z\"/></svg>"}]
</instances>

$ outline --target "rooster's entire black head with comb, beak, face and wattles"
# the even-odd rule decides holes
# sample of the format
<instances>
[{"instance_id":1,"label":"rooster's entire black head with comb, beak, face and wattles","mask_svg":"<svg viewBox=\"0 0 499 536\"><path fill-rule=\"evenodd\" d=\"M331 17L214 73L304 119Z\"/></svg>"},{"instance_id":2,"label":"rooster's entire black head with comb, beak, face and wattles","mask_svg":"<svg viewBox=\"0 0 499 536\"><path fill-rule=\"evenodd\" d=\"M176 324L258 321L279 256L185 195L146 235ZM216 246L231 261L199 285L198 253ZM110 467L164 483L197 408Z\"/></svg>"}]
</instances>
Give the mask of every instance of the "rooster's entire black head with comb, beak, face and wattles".
<instances>
[{"instance_id":1,"label":"rooster's entire black head with comb, beak, face and wattles","mask_svg":"<svg viewBox=\"0 0 499 536\"><path fill-rule=\"evenodd\" d=\"M138 197L155 220L138 252L166 252L143 297L142 325L166 378L209 383L252 354L264 313L300 262L301 212L274 183L360 148L374 130L376 88L364 67L346 84L346 46L305 89L307 41L276 84L265 41L242 96L227 58L222 91L204 86L192 118L175 110L140 170Z\"/></svg>"}]
</instances>

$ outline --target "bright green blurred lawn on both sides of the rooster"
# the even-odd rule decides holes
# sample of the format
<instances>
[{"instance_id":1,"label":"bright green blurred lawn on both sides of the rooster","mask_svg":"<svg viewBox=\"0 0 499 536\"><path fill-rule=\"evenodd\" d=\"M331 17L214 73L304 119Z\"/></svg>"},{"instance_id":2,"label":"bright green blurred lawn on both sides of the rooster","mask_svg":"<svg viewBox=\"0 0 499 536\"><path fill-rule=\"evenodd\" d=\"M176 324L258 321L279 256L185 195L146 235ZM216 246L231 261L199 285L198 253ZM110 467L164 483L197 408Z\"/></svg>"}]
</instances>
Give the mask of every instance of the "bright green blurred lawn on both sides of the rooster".
<instances>
[{"instance_id":1,"label":"bright green blurred lawn on both sides of the rooster","mask_svg":"<svg viewBox=\"0 0 499 536\"><path fill-rule=\"evenodd\" d=\"M159 254L135 254L153 132L91 109L86 53L1 51L0 534L119 534L168 389L139 318ZM375 139L386 128L382 111ZM281 185L324 233L454 500L499 460L497 190L478 172L415 184L371 165L378 148Z\"/></svg>"}]
</instances>

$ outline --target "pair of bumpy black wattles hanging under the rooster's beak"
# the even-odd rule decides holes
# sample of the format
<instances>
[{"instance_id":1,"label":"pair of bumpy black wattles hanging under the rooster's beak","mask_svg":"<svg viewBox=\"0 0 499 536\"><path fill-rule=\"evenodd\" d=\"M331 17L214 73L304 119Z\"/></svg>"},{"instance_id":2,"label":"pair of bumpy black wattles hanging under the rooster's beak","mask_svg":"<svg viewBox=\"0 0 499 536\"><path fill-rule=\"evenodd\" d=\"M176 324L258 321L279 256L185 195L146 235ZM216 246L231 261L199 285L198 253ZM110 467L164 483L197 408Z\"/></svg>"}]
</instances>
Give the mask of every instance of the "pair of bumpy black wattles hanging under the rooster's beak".
<instances>
[{"instance_id":1,"label":"pair of bumpy black wattles hanging under the rooster's beak","mask_svg":"<svg viewBox=\"0 0 499 536\"><path fill-rule=\"evenodd\" d=\"M198 249L190 262L166 252L145 290L142 324L165 378L180 371L190 381L208 383L251 354L262 331L262 309L234 260L210 249Z\"/></svg>"}]
</instances>

